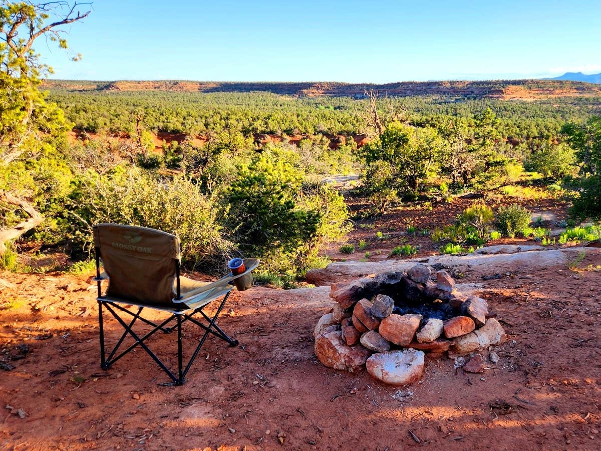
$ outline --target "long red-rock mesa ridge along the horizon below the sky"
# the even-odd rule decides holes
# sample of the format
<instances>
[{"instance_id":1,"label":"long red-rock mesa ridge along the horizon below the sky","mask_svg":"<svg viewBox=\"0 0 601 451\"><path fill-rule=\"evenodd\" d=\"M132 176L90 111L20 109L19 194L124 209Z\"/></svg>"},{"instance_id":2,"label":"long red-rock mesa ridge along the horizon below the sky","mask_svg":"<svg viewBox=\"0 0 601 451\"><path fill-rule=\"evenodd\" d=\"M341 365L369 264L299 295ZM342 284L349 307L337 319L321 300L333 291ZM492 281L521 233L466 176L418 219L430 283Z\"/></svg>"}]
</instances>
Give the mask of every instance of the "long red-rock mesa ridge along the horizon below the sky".
<instances>
[{"instance_id":1,"label":"long red-rock mesa ridge along the horizon below the sky","mask_svg":"<svg viewBox=\"0 0 601 451\"><path fill-rule=\"evenodd\" d=\"M155 81L82 81L46 80L44 89L52 91L170 91L179 93L251 93L266 92L297 97L355 97L365 90L381 96L443 96L469 99L538 100L554 97L600 97L601 85L563 80L489 80L489 81L403 81L387 84L341 82L219 82L187 80Z\"/></svg>"}]
</instances>

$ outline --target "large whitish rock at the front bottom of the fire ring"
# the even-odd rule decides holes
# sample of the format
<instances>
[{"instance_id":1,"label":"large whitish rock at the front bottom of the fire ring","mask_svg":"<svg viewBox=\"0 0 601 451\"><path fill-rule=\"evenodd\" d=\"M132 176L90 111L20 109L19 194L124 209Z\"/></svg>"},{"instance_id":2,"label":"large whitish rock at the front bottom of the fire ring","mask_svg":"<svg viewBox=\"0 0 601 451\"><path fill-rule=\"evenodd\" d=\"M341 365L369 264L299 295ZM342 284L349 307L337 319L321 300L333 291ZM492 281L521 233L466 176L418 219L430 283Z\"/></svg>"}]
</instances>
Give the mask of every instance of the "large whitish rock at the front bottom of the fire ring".
<instances>
[{"instance_id":1,"label":"large whitish rock at the front bottom of the fire ring","mask_svg":"<svg viewBox=\"0 0 601 451\"><path fill-rule=\"evenodd\" d=\"M367 359L367 372L385 384L406 385L424 372L424 353L413 349L380 352Z\"/></svg>"}]
</instances>

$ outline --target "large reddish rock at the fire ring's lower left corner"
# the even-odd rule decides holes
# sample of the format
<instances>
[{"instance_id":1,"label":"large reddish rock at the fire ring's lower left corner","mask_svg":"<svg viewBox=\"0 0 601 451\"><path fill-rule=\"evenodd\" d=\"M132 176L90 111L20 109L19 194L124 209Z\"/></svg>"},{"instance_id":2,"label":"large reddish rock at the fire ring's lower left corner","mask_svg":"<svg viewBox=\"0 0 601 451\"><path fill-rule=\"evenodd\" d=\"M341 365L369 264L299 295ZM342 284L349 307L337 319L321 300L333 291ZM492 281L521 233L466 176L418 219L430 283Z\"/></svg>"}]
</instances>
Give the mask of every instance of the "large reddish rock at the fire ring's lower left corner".
<instances>
[{"instance_id":1,"label":"large reddish rock at the fire ring's lower left corner","mask_svg":"<svg viewBox=\"0 0 601 451\"><path fill-rule=\"evenodd\" d=\"M341 332L330 332L317 336L315 355L329 368L351 373L361 369L371 351L362 346L349 346L344 343Z\"/></svg>"}]
</instances>

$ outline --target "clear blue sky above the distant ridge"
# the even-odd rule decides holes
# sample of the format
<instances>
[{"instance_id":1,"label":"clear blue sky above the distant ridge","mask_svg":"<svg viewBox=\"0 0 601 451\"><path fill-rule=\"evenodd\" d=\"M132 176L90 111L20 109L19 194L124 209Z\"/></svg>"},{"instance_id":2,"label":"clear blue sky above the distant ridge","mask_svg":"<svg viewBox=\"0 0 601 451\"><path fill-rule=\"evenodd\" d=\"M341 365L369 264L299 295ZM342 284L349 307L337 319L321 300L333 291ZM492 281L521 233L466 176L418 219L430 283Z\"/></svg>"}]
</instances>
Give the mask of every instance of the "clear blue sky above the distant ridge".
<instances>
[{"instance_id":1,"label":"clear blue sky above the distant ridge","mask_svg":"<svg viewBox=\"0 0 601 451\"><path fill-rule=\"evenodd\" d=\"M394 82L601 72L601 1L96 0L52 78Z\"/></svg>"}]
</instances>

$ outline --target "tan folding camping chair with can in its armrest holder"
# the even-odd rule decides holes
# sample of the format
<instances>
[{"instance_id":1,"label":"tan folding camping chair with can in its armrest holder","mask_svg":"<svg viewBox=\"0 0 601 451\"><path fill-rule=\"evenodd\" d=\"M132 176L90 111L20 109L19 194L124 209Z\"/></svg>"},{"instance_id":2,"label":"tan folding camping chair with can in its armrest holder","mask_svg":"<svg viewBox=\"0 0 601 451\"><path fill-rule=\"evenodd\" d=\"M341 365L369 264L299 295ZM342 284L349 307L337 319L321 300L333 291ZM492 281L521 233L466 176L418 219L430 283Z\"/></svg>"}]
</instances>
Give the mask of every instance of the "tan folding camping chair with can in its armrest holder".
<instances>
[{"instance_id":1,"label":"tan folding camping chair with can in its armrest holder","mask_svg":"<svg viewBox=\"0 0 601 451\"><path fill-rule=\"evenodd\" d=\"M238 345L238 341L229 337L215 322L234 287L231 283L256 268L259 264L258 259L245 259L246 271L242 274L228 274L215 282L206 283L180 275L180 246L177 236L160 232L160 230L119 224L97 224L94 225L93 230L96 248L96 278L94 280L98 286L100 366L102 369L108 369L139 345L171 378L172 384L182 385L209 334L224 340L230 346ZM100 272L101 259L104 268L102 274ZM106 279L108 279L109 285L103 295L101 284ZM203 308L215 299L221 299L221 303L215 315L210 318L204 313ZM132 305L137 307L135 313L128 310ZM108 310L124 328L123 334L108 355L105 353L103 308ZM165 311L169 313L169 317L156 324L141 316L142 310L145 308ZM208 325L194 318L194 315L199 313L209 322ZM126 322L120 314L129 321ZM175 325L168 327L172 321L175 321ZM184 367L182 324L186 321L202 328L204 335ZM133 331L136 322L143 322L153 329L140 337ZM146 341L157 331L168 334L175 329L177 329L177 375L171 372L146 345ZM135 340L135 343L117 354L128 335Z\"/></svg>"}]
</instances>

